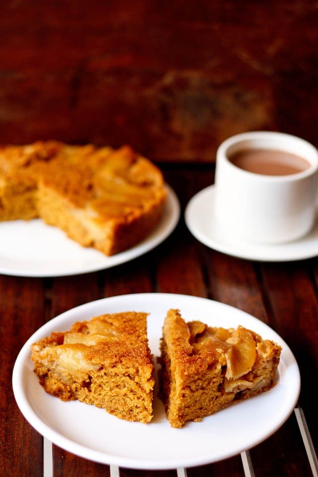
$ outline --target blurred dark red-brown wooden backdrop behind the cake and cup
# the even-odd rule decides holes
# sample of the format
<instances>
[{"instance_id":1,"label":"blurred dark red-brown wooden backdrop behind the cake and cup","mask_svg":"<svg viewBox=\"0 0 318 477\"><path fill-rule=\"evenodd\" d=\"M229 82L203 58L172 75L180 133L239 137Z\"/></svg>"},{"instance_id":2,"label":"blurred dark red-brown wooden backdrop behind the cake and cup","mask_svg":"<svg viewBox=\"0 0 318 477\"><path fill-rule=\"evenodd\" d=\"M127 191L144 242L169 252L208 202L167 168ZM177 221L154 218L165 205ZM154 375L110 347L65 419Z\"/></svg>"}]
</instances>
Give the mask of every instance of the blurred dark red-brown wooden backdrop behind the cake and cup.
<instances>
[{"instance_id":1,"label":"blurred dark red-brown wooden backdrop behind the cake and cup","mask_svg":"<svg viewBox=\"0 0 318 477\"><path fill-rule=\"evenodd\" d=\"M317 145L317 25L317 1L2 1L0 143L174 162L248 130Z\"/></svg>"}]
</instances>

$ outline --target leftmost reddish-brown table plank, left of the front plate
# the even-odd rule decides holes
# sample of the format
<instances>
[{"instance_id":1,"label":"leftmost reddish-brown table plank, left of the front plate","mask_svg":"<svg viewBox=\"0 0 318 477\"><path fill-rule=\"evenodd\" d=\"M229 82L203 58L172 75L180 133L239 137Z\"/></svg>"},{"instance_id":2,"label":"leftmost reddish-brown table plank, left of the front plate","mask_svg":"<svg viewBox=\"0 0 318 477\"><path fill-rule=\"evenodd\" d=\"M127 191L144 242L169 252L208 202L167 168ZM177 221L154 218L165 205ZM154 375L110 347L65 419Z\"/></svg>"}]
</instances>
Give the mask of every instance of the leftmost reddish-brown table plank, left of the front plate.
<instances>
[{"instance_id":1,"label":"leftmost reddish-brown table plank, left of the front plate","mask_svg":"<svg viewBox=\"0 0 318 477\"><path fill-rule=\"evenodd\" d=\"M20 413L11 381L17 354L44 315L42 280L0 275L0 469L7 476L42 476L42 438Z\"/></svg>"}]
</instances>

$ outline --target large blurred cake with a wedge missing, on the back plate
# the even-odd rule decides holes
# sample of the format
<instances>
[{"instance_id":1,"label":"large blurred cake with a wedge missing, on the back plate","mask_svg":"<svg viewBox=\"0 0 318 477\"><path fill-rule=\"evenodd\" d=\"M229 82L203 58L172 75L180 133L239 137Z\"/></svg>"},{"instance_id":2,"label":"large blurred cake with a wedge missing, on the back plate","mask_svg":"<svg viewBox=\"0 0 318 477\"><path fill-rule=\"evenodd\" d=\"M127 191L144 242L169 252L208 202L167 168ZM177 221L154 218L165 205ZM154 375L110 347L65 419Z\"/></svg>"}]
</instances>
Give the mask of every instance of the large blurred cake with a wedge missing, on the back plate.
<instances>
[{"instance_id":1,"label":"large blurred cake with a wedge missing, on the back plate","mask_svg":"<svg viewBox=\"0 0 318 477\"><path fill-rule=\"evenodd\" d=\"M129 146L48 141L0 148L0 221L39 217L105 255L145 239L165 201L161 171Z\"/></svg>"}]
</instances>

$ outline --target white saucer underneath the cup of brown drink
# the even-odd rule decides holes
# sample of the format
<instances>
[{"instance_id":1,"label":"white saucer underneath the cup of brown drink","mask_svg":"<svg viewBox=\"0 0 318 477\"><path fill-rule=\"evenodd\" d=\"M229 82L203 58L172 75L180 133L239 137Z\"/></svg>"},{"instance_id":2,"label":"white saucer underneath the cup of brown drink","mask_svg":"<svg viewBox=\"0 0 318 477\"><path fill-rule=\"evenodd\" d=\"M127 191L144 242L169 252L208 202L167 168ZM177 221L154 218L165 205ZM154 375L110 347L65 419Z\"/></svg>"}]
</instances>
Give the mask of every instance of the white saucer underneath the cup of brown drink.
<instances>
[{"instance_id":1,"label":"white saucer underneath the cup of brown drink","mask_svg":"<svg viewBox=\"0 0 318 477\"><path fill-rule=\"evenodd\" d=\"M185 209L185 222L191 234L210 248L248 260L285 262L318 255L318 220L306 237L279 245L250 242L231 235L214 213L215 186L198 192Z\"/></svg>"}]
</instances>

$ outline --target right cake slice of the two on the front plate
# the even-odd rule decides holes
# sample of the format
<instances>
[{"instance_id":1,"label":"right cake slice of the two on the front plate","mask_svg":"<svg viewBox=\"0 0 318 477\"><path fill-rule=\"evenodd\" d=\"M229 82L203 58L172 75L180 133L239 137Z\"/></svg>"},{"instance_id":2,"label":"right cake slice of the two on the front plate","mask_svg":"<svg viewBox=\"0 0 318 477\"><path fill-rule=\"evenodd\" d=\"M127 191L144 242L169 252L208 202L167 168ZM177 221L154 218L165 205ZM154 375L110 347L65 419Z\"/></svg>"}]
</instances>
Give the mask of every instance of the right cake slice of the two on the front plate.
<instances>
[{"instance_id":1,"label":"right cake slice of the two on the front plate","mask_svg":"<svg viewBox=\"0 0 318 477\"><path fill-rule=\"evenodd\" d=\"M160 340L159 396L171 427L200 421L275 385L281 347L257 333L185 322L169 310Z\"/></svg>"}]
</instances>

